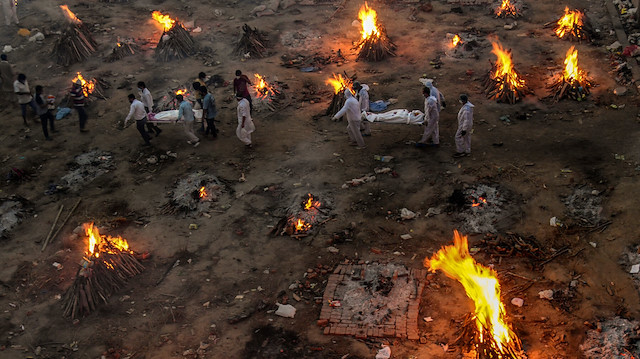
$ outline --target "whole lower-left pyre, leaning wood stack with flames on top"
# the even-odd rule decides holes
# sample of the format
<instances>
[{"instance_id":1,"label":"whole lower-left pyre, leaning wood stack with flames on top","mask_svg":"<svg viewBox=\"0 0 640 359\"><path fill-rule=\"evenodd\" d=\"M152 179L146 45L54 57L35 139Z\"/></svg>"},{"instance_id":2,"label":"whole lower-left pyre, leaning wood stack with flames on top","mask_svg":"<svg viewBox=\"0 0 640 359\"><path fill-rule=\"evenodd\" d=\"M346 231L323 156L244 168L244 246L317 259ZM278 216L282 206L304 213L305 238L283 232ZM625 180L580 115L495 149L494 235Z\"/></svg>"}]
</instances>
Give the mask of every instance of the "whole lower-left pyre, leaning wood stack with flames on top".
<instances>
[{"instance_id":1,"label":"whole lower-left pyre, leaning wood stack with flames on top","mask_svg":"<svg viewBox=\"0 0 640 359\"><path fill-rule=\"evenodd\" d=\"M85 223L87 250L76 278L62 299L65 317L86 316L120 290L127 280L144 270L120 236L101 235L93 223Z\"/></svg>"}]
</instances>

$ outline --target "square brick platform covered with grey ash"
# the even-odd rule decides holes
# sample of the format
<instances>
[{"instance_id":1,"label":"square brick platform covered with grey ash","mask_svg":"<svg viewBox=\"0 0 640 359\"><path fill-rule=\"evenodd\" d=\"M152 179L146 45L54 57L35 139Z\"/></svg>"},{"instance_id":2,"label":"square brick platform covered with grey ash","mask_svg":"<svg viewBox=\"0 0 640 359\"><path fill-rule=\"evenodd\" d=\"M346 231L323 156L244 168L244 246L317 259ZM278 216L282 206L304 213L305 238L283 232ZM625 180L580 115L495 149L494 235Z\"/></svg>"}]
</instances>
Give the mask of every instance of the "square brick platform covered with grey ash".
<instances>
[{"instance_id":1,"label":"square brick platform covered with grey ash","mask_svg":"<svg viewBox=\"0 0 640 359\"><path fill-rule=\"evenodd\" d=\"M426 275L426 269L396 264L338 265L329 276L318 325L326 335L417 340Z\"/></svg>"}]
</instances>

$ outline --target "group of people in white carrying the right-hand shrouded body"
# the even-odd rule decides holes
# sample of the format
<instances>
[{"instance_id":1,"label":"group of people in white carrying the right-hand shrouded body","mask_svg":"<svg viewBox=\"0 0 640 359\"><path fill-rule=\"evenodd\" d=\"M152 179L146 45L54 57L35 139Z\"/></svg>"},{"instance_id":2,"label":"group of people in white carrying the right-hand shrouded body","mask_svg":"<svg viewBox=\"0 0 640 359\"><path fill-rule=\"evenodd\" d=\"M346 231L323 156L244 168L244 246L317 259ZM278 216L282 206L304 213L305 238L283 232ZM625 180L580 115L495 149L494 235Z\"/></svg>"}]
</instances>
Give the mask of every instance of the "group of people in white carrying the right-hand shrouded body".
<instances>
[{"instance_id":1,"label":"group of people in white carrying the right-hand shrouded body","mask_svg":"<svg viewBox=\"0 0 640 359\"><path fill-rule=\"evenodd\" d=\"M350 144L357 146L358 149L363 149L366 148L363 136L371 136L369 121L363 120L364 113L369 111L369 86L355 81L352 88L353 90L349 88L344 90L345 103L340 111L333 116L333 120L346 116ZM424 82L422 94L424 95L424 131L422 138L416 143L416 147L438 147L440 145L440 111L446 107L444 95L433 85L432 80ZM458 111L458 129L454 137L456 144L454 157L464 157L471 154L474 105L469 102L469 97L465 94L460 95L459 100L462 106Z\"/></svg>"}]
</instances>

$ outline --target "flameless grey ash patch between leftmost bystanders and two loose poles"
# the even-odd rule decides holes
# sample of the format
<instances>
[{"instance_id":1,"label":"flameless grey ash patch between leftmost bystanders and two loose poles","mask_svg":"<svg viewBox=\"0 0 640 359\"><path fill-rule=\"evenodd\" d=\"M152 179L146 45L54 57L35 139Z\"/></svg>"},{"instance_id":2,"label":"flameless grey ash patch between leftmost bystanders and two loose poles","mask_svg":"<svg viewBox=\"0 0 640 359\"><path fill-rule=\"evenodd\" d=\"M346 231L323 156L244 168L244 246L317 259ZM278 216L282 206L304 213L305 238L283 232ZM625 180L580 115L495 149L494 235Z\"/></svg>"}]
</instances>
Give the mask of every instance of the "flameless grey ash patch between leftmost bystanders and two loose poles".
<instances>
[{"instance_id":1,"label":"flameless grey ash patch between leftmost bystanders and two loose poles","mask_svg":"<svg viewBox=\"0 0 640 359\"><path fill-rule=\"evenodd\" d=\"M58 190L78 192L97 177L115 169L115 161L109 152L93 150L76 156L68 164L70 169L60 178Z\"/></svg>"}]
</instances>

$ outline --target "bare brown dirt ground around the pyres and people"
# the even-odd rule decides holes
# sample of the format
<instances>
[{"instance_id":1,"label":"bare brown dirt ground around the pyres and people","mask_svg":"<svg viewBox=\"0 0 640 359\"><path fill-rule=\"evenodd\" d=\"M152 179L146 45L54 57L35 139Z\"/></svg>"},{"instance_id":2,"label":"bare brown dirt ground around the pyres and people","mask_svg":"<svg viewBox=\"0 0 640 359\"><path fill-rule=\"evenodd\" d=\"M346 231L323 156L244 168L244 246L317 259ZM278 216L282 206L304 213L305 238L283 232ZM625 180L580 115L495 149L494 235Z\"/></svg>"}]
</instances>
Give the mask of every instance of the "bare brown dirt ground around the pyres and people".
<instances>
[{"instance_id":1,"label":"bare brown dirt ground around the pyres and people","mask_svg":"<svg viewBox=\"0 0 640 359\"><path fill-rule=\"evenodd\" d=\"M544 263L515 253L501 257L482 246L483 233L470 237L470 245L479 249L477 260L500 273L509 317L529 358L581 357L586 324L595 327L615 316L638 319L638 289L628 266L636 263L621 262L624 253L635 251L640 235L635 197L640 190L637 93L631 86L625 96L613 94L615 74L604 46L616 39L602 1L528 1L529 9L514 30L503 28L512 20L494 19L483 7L463 7L458 14L450 12L445 2L434 1L432 12L418 11L417 21L410 21L414 4L371 1L398 45L397 57L376 64L352 61L351 42L359 34L351 23L361 5L358 1L347 1L337 13L338 4L326 2L294 5L260 18L250 16L257 1L67 4L80 19L95 24L92 29L99 44L95 58L69 68L52 62L55 35L50 32L65 22L57 2L20 2L21 26L45 32L42 43L16 35L17 28L1 32L2 44L18 48L8 54L10 62L16 73L27 74L32 88L42 84L61 99L76 71L110 84L105 90L108 99L88 107L86 134L78 132L74 112L57 122L59 133L45 142L39 124L33 123L29 130L23 127L17 105L12 102L2 109L3 174L18 168L31 179L3 182L0 196L23 197L31 212L0 241L1 357L372 358L383 342L391 344L394 358L459 357L460 348L453 346L455 331L472 303L462 287L444 275L430 276L422 294L420 318L433 321L420 321L419 343L323 335L316 325L322 303L314 297L322 296L326 275L318 271L309 280L305 273L332 269L345 259L421 268L423 259L450 243L453 230L465 224L461 213L469 205L452 205L454 190L480 184L500 188L509 203L509 213L493 223L496 232L532 236L546 258L553 258ZM573 44L579 49L581 66L597 84L585 102L553 103L544 98L545 81L561 68L571 44L543 26L557 19L565 5L585 8L601 34L595 44ZM204 66L199 58L156 63L150 45L161 31L151 20L152 10L195 21L202 32L193 37L215 51L214 66ZM246 61L232 56L244 23L269 34L272 56ZM484 97L481 79L494 60L490 47L480 49L478 59L444 56L446 34L471 28L484 35L494 33L513 50L515 65L535 95L517 105L496 104ZM281 44L285 34L303 30L317 37L304 42L302 50ZM118 37L146 45L135 56L103 62ZM351 61L313 73L280 65L283 54L314 49L326 53L341 49ZM439 55L442 66L435 69L430 61ZM179 126L162 126L153 146L144 148L133 127L122 130L118 125L129 108L126 95L134 92L139 80L158 99L190 83L200 71L230 81L236 69L286 83L293 98L284 110L254 115L253 150L246 150L235 137L235 101L227 101L230 87L213 90L219 106L219 139L203 139L197 148L185 143ZM420 138L420 127L373 124L372 137L365 138L367 148L356 150L348 146L345 122L314 119L331 99L324 81L343 70L356 72L371 86L372 100L397 98L393 108L422 109L417 79L423 74L435 78L448 98L440 120L440 148L421 150L412 145ZM322 101L300 100L309 82L327 90ZM476 106L473 154L453 159L456 98L462 92L469 93ZM510 116L509 122L500 120L504 115ZM75 156L92 150L108 152L113 166L78 191L45 194L73 169ZM153 165L146 160L167 151L177 153L177 158ZM382 164L374 155L394 160ZM383 165L398 176L379 175L374 182L341 189L345 181ZM225 183L224 194L208 212L211 218L163 214L176 181L197 171ZM238 180L242 174L245 182ZM597 191L602 211L596 223L611 221L608 226L594 228L596 223L572 216L567 203L575 201L567 198L585 188L590 189L587 193ZM330 199L336 219L317 229L317 235L300 240L270 237L271 226L284 210L308 192ZM41 252L36 242L46 237L59 205L65 205L66 213L78 198L82 203L69 223ZM399 220L401 208L419 213L418 218ZM429 208L439 208L440 214L427 217ZM568 228L551 227L549 219L554 216ZM107 305L74 323L62 317L58 296L73 281L85 250L85 243L74 240L72 231L89 221L122 235L135 250L152 257L143 262L143 274ZM330 243L332 233L352 223L353 241ZM198 228L190 230L190 224ZM407 233L412 238L402 240L400 235ZM329 245L339 252L328 252ZM156 284L178 259L180 265ZM57 270L54 262L63 268ZM299 281L305 287L307 280L310 288L297 290L302 298L295 300L291 284ZM538 298L538 292L546 289L555 291L553 300ZM284 296L297 308L293 319L272 312ZM509 304L513 297L524 299L524 306ZM448 352L443 350L446 345Z\"/></svg>"}]
</instances>

